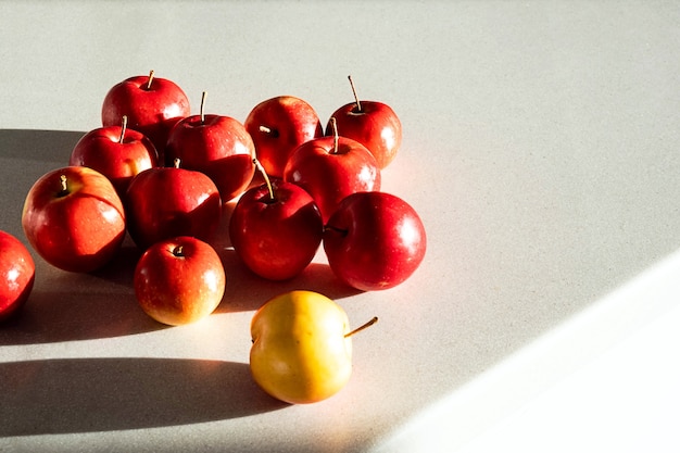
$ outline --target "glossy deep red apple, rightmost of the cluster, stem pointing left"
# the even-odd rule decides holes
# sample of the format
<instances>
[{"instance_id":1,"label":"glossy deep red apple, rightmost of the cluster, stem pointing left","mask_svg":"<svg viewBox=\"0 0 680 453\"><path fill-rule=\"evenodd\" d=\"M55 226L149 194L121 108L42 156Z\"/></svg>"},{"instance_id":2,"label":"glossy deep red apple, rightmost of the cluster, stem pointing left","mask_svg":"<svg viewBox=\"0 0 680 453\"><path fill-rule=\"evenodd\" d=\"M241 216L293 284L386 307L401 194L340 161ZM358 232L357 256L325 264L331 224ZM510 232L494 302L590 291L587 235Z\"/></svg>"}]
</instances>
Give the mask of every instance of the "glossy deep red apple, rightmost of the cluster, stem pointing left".
<instances>
[{"instance_id":1,"label":"glossy deep red apple, rightmost of the cluster, stem pointing left","mask_svg":"<svg viewBox=\"0 0 680 453\"><path fill-rule=\"evenodd\" d=\"M416 211L386 192L345 198L328 221L324 250L333 274L362 291L393 288L425 257L427 237Z\"/></svg>"}]
</instances>

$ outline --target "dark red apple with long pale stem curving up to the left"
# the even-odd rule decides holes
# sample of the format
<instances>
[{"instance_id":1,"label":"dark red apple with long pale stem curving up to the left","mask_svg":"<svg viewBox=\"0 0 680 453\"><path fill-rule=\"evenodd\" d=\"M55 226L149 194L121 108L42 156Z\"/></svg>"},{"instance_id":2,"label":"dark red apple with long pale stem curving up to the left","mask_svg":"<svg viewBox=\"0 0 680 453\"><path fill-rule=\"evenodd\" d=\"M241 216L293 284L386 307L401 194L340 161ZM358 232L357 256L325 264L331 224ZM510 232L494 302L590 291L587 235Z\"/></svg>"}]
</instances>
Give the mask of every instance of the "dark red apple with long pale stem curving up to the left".
<instances>
[{"instance_id":1,"label":"dark red apple with long pale stem curving up to the left","mask_svg":"<svg viewBox=\"0 0 680 453\"><path fill-rule=\"evenodd\" d=\"M300 186L273 179L249 189L236 204L229 237L236 253L253 273L286 280L302 273L322 242L324 223L312 196Z\"/></svg>"}]
</instances>

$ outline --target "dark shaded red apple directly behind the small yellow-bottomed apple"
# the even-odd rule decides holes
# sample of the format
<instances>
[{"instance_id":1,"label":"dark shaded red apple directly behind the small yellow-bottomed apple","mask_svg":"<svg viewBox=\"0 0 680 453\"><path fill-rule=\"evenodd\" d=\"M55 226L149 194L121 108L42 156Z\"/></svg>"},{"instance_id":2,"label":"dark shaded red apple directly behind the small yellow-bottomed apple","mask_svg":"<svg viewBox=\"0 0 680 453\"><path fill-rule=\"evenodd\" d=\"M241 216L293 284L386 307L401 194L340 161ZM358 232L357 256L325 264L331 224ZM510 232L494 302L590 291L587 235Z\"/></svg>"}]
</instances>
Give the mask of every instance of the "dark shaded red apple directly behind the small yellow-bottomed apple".
<instances>
[{"instance_id":1,"label":"dark shaded red apple directly behind the small yellow-bottomed apple","mask_svg":"<svg viewBox=\"0 0 680 453\"><path fill-rule=\"evenodd\" d=\"M222 199L212 179L176 167L150 168L135 176L125 206L130 238L142 250L178 236L210 241L222 215Z\"/></svg>"}]
</instances>

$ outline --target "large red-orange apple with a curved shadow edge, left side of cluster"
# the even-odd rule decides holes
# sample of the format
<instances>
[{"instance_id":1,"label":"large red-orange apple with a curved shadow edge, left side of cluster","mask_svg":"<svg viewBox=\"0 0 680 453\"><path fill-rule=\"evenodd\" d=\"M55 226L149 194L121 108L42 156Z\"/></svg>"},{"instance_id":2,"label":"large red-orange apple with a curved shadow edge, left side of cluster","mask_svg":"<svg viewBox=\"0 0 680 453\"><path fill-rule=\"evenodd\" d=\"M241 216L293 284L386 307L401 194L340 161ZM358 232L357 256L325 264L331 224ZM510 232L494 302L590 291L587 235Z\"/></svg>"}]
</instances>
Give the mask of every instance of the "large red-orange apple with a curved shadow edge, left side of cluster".
<instances>
[{"instance_id":1,"label":"large red-orange apple with a curved shadow edge, left side of cluster","mask_svg":"<svg viewBox=\"0 0 680 453\"><path fill-rule=\"evenodd\" d=\"M34 184L24 202L22 227L45 261L87 273L108 264L118 251L125 238L125 210L109 178L92 168L67 166Z\"/></svg>"}]
</instances>

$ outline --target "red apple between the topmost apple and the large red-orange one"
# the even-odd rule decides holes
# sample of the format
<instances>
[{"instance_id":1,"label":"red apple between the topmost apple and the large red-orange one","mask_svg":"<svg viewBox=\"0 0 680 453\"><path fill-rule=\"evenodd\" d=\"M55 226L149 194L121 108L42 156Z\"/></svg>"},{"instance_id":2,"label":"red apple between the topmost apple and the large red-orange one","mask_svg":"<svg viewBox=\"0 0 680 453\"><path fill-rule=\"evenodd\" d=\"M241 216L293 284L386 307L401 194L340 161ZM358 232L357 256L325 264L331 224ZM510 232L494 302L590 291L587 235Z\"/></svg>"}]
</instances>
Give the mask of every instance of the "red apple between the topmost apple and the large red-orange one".
<instances>
[{"instance_id":1,"label":"red apple between the topmost apple and the large red-orange one","mask_svg":"<svg viewBox=\"0 0 680 453\"><path fill-rule=\"evenodd\" d=\"M121 126L99 127L85 134L71 152L68 165L89 166L111 180L119 196L138 173L158 166L155 147L143 134Z\"/></svg>"}]
</instances>

